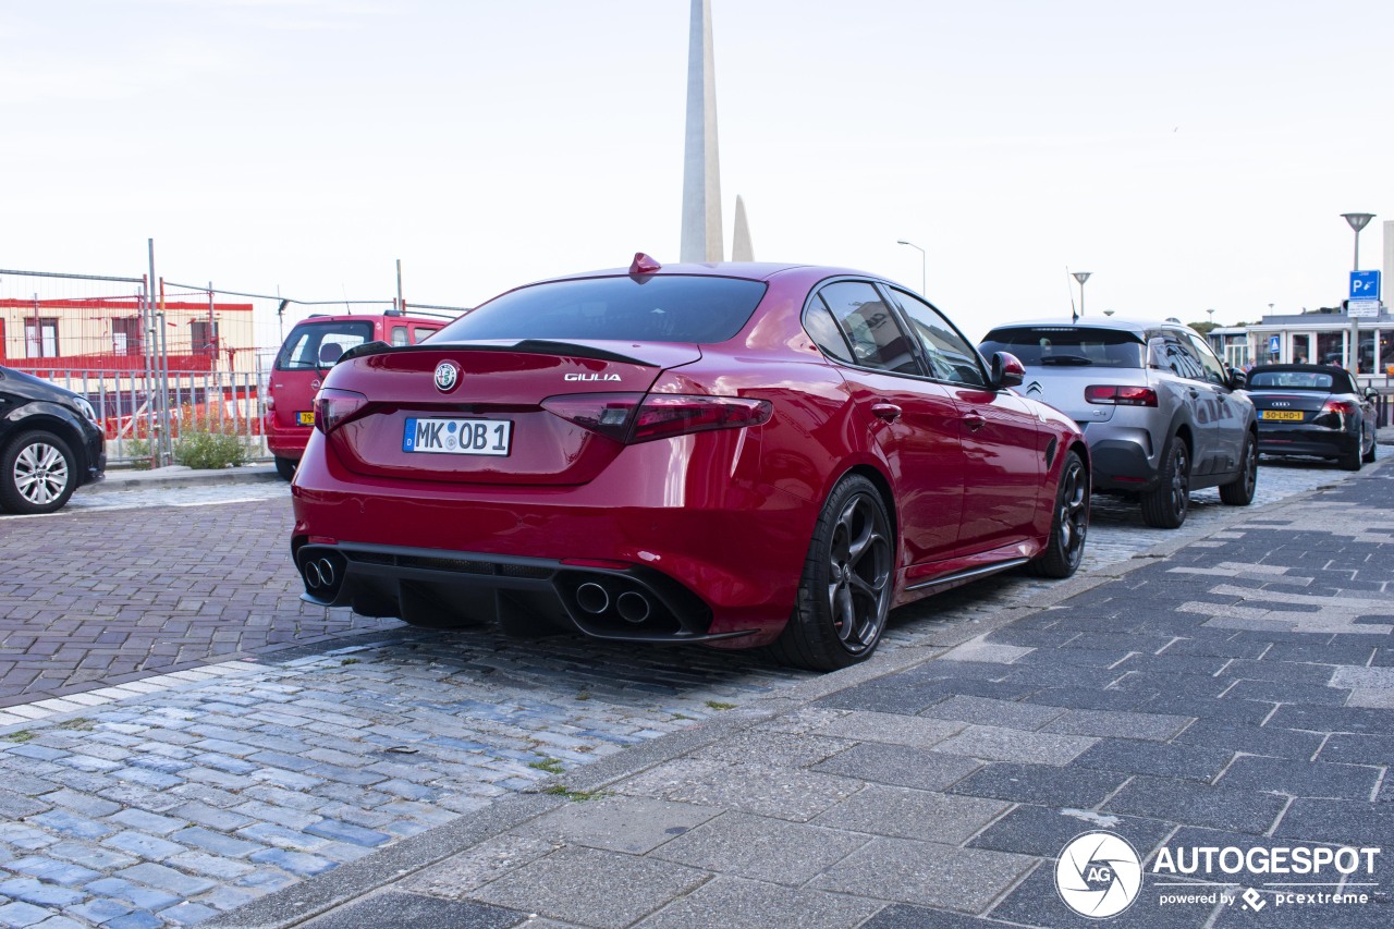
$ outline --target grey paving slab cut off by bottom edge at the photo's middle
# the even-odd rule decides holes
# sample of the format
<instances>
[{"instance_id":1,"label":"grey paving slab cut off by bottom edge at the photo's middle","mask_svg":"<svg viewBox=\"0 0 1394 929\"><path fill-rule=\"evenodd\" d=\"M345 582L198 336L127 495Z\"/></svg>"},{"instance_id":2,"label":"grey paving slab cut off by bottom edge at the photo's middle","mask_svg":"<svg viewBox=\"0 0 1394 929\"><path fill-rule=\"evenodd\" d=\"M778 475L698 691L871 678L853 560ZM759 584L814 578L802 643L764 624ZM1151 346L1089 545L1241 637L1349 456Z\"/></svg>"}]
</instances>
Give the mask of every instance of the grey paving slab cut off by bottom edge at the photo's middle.
<instances>
[{"instance_id":1,"label":"grey paving slab cut off by bottom edge at the photo's middle","mask_svg":"<svg viewBox=\"0 0 1394 929\"><path fill-rule=\"evenodd\" d=\"M845 894L721 876L638 925L643 929L768 929L796 918L800 929L841 929L861 923L880 905L878 901Z\"/></svg>"}]
</instances>

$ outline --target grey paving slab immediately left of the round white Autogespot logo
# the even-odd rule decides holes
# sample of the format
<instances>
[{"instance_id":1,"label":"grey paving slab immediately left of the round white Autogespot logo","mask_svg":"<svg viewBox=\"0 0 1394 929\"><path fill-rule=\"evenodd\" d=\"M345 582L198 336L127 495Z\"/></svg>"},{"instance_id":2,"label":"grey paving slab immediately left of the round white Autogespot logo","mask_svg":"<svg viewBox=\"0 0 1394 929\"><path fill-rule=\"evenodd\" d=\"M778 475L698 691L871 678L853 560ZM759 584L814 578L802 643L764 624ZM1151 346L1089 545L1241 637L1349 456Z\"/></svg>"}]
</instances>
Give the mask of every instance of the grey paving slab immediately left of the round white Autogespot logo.
<instances>
[{"instance_id":1,"label":"grey paving slab immediately left of the round white Autogespot logo","mask_svg":"<svg viewBox=\"0 0 1394 929\"><path fill-rule=\"evenodd\" d=\"M983 912L1034 863L1034 858L1008 852L877 838L809 886L878 900Z\"/></svg>"}]
</instances>

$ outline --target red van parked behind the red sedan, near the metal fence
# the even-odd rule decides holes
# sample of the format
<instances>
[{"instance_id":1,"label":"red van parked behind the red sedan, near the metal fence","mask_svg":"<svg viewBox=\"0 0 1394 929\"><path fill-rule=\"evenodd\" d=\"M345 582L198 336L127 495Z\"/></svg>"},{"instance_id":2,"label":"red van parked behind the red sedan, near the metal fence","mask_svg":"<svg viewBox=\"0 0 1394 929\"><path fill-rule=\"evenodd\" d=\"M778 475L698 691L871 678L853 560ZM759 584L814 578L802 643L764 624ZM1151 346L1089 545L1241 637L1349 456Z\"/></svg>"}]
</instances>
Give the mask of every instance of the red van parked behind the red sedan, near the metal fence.
<instances>
[{"instance_id":1,"label":"red van parked behind the red sedan, near the metal fence","mask_svg":"<svg viewBox=\"0 0 1394 929\"><path fill-rule=\"evenodd\" d=\"M315 425L315 393L339 356L364 342L415 345L452 318L388 310L381 314L312 315L297 322L276 353L266 392L263 428L266 446L276 456L276 471L287 481L296 476Z\"/></svg>"}]
</instances>

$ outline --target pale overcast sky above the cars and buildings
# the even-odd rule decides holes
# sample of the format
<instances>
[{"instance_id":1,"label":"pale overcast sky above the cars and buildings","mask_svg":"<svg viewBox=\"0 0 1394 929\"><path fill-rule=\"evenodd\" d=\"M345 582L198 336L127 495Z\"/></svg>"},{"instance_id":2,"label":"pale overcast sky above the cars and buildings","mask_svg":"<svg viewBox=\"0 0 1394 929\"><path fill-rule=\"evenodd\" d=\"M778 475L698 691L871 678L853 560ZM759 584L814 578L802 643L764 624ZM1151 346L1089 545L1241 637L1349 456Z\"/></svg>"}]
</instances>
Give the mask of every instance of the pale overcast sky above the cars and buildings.
<instances>
[{"instance_id":1,"label":"pale overcast sky above the cars and buildings","mask_svg":"<svg viewBox=\"0 0 1394 929\"><path fill-rule=\"evenodd\" d=\"M711 3L728 251L740 194L757 259L923 271L974 339L1068 315L1069 271L1090 312L1337 304L1344 212L1377 215L1383 264L1387 0ZM0 268L139 276L153 239L171 282L390 300L400 259L408 304L470 307L675 262L687 24L689 0L0 0Z\"/></svg>"}]
</instances>

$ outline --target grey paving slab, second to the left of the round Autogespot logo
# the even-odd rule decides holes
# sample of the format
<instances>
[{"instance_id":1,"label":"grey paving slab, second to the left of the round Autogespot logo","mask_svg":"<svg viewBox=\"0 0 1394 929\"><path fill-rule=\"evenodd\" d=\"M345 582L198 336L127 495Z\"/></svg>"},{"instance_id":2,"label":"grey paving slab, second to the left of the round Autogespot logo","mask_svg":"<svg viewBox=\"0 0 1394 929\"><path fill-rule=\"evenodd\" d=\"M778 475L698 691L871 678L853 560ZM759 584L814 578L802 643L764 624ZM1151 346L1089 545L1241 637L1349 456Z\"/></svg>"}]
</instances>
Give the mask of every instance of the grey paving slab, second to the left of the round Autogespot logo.
<instances>
[{"instance_id":1,"label":"grey paving slab, second to the left of the round Autogespot logo","mask_svg":"<svg viewBox=\"0 0 1394 929\"><path fill-rule=\"evenodd\" d=\"M799 886L870 841L868 836L767 816L723 813L650 858L751 880ZM790 849L799 849L790 854Z\"/></svg>"}]
</instances>

